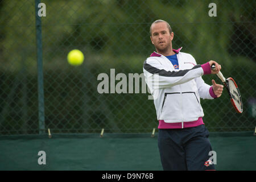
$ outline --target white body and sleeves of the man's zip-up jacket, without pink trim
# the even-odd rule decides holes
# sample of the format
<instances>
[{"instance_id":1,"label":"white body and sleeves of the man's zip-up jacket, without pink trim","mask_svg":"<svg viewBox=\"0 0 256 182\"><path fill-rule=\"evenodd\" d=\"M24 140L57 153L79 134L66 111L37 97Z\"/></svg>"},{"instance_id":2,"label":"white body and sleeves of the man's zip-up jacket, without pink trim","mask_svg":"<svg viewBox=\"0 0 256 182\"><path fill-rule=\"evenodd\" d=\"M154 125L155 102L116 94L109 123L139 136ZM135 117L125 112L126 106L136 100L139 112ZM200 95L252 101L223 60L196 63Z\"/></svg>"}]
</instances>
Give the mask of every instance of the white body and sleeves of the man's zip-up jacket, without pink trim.
<instances>
[{"instance_id":1,"label":"white body and sleeves of the man's zip-up jacket, without pink trim","mask_svg":"<svg viewBox=\"0 0 256 182\"><path fill-rule=\"evenodd\" d=\"M200 98L213 99L209 92L210 85L201 78L203 68L196 64L192 55L180 52L180 49L173 49L177 53L179 69L174 69L166 56L156 52L143 65L147 86L154 97L157 118L166 123L190 122L204 117Z\"/></svg>"}]
</instances>

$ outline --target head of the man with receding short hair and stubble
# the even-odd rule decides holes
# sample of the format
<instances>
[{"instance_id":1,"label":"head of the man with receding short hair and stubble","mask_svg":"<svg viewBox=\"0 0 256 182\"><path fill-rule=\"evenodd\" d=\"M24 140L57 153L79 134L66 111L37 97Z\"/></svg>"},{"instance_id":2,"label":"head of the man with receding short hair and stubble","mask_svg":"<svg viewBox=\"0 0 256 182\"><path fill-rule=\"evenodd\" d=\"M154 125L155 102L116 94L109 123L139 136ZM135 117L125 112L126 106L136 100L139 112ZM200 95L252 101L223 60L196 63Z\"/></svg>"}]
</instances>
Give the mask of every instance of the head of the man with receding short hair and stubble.
<instances>
[{"instance_id":1,"label":"head of the man with receding short hair and stubble","mask_svg":"<svg viewBox=\"0 0 256 182\"><path fill-rule=\"evenodd\" d=\"M164 52L171 48L174 33L170 34L165 22L154 23L151 26L151 42L157 51Z\"/></svg>"}]
</instances>

